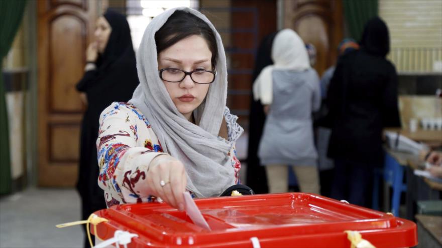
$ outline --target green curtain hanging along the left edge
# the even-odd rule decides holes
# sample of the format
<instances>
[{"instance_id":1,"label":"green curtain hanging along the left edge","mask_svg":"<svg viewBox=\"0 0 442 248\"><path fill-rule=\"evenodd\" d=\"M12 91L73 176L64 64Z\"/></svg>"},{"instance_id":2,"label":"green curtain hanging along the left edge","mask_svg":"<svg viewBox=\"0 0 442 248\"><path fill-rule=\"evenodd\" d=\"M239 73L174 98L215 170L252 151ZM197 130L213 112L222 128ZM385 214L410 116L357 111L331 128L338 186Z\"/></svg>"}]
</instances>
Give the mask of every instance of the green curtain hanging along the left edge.
<instances>
[{"instance_id":1,"label":"green curtain hanging along the left edge","mask_svg":"<svg viewBox=\"0 0 442 248\"><path fill-rule=\"evenodd\" d=\"M11 192L8 113L2 65L22 22L25 6L26 0L0 0L0 194Z\"/></svg>"}]
</instances>

